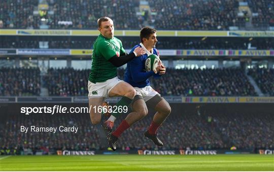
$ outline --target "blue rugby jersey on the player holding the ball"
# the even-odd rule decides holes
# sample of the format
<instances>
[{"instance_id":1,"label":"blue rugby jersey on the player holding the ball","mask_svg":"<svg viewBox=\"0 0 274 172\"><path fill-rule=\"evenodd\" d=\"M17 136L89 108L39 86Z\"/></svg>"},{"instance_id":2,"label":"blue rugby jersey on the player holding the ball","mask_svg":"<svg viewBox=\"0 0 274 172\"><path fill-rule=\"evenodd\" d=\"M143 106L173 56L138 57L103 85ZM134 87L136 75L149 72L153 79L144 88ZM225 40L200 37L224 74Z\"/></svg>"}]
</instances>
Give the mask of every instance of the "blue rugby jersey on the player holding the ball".
<instances>
[{"instance_id":1,"label":"blue rugby jersey on the player holding the ball","mask_svg":"<svg viewBox=\"0 0 274 172\"><path fill-rule=\"evenodd\" d=\"M140 44L136 45L130 51L133 52L135 48L142 47ZM153 48L153 54L159 56L159 52L157 49ZM144 54L139 57L135 57L131 61L129 61L126 65L126 70L124 74L124 80L128 82L132 87L143 88L147 85L150 85L149 77L160 77L161 75L155 74L153 71L146 72L145 61L148 58L148 54Z\"/></svg>"}]
</instances>

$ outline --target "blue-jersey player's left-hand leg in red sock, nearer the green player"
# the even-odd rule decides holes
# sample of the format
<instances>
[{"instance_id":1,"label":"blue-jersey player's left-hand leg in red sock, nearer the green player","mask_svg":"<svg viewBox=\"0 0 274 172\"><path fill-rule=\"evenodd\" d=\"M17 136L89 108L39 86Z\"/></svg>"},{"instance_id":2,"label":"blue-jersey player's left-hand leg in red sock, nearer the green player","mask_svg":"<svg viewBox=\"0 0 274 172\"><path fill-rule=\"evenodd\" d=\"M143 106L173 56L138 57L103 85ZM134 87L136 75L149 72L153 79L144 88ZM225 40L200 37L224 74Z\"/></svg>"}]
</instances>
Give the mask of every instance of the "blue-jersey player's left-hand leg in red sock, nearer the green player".
<instances>
[{"instance_id":1,"label":"blue-jersey player's left-hand leg in red sock, nearer the green player","mask_svg":"<svg viewBox=\"0 0 274 172\"><path fill-rule=\"evenodd\" d=\"M120 123L109 138L109 146L116 150L116 142L121 134L127 130L133 123L142 119L148 114L148 108L142 96L136 95L132 102L132 112Z\"/></svg>"}]
</instances>

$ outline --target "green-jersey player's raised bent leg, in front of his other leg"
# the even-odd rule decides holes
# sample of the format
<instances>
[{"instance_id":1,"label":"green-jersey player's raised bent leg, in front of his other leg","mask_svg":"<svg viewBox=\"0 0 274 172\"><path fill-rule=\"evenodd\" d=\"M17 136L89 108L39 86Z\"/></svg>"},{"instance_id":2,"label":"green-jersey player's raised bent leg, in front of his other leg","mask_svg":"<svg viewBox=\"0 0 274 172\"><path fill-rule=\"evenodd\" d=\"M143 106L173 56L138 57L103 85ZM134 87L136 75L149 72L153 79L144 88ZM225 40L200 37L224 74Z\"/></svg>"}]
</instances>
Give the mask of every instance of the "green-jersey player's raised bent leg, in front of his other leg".
<instances>
[{"instance_id":1,"label":"green-jersey player's raised bent leg, in front of his other leg","mask_svg":"<svg viewBox=\"0 0 274 172\"><path fill-rule=\"evenodd\" d=\"M108 86L108 87L111 87L109 89L108 96L109 97L122 96L122 98L115 105L116 111L113 111L109 119L102 124L102 127L108 134L112 132L115 119L121 114L119 113L117 108L121 107L122 109L124 109L123 108L124 106L128 107L130 103L132 102L136 93L134 88L127 82L124 82L118 78L116 79L113 78L112 82L113 83L110 83ZM115 108L113 108L113 110L114 109Z\"/></svg>"}]
</instances>

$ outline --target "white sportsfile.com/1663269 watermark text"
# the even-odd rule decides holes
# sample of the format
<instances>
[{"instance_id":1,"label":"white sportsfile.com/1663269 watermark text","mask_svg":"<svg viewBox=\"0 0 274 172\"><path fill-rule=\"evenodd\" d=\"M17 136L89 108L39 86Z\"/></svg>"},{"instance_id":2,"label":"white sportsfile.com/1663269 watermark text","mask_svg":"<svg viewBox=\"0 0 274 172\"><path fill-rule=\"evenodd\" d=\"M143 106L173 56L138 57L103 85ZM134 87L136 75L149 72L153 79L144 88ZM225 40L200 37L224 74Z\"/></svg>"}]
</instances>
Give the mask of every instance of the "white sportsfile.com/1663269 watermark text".
<instances>
[{"instance_id":1,"label":"white sportsfile.com/1663269 watermark text","mask_svg":"<svg viewBox=\"0 0 274 172\"><path fill-rule=\"evenodd\" d=\"M29 115L32 113L126 113L127 106L90 106L90 107L64 107L62 105L44 106L44 107L21 107L20 113Z\"/></svg>"}]
</instances>

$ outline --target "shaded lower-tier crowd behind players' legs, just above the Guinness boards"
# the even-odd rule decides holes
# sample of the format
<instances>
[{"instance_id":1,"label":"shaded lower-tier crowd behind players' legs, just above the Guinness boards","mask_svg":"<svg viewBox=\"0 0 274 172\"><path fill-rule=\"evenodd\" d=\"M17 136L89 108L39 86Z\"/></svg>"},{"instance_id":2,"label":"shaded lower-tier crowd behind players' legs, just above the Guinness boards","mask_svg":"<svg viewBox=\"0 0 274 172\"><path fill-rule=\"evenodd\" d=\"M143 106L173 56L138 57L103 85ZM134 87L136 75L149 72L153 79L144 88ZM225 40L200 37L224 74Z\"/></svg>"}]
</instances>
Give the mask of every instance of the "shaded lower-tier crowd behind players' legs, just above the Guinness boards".
<instances>
[{"instance_id":1,"label":"shaded lower-tier crowd behind players' legs, just above the Guinness boards","mask_svg":"<svg viewBox=\"0 0 274 172\"><path fill-rule=\"evenodd\" d=\"M118 140L120 150L137 149L238 149L274 147L273 130L271 128L273 115L271 113L237 111L225 108L216 111L197 113L184 108L173 112L158 130L164 147L159 148L144 138L153 111L147 117L132 125ZM232 112L233 111L233 112ZM120 123L125 116L117 119ZM48 114L40 115L7 115L1 120L5 130L0 131L0 148L32 151L44 150L101 150L106 149L105 135L100 133L99 126L90 123L88 114ZM34 125L39 127L79 127L78 132L19 132L20 126ZM116 126L117 127L117 126ZM103 135L103 136L100 136ZM103 139L101 139L103 138ZM104 143L102 143L104 142ZM5 152L4 152L5 153Z\"/></svg>"}]
</instances>

